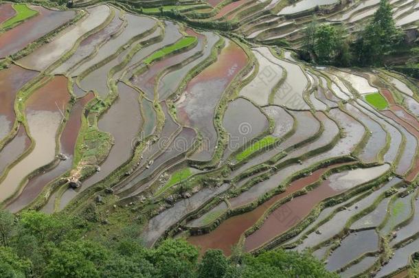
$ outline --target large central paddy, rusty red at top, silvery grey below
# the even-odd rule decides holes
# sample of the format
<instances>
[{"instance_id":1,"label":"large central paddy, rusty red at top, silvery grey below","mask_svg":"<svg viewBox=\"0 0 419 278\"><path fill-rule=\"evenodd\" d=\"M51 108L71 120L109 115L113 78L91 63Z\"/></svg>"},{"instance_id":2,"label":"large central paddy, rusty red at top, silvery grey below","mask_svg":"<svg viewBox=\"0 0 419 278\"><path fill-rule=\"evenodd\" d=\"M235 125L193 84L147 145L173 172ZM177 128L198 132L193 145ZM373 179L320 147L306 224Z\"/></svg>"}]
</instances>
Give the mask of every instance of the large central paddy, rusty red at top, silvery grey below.
<instances>
[{"instance_id":1,"label":"large central paddy, rusty red at top, silvery grey below","mask_svg":"<svg viewBox=\"0 0 419 278\"><path fill-rule=\"evenodd\" d=\"M179 121L197 128L205 139L202 150L194 154L192 159L212 158L217 141L213 122L216 106L229 83L247 64L245 51L230 40L226 43L218 60L188 83L185 93L176 104Z\"/></svg>"}]
</instances>

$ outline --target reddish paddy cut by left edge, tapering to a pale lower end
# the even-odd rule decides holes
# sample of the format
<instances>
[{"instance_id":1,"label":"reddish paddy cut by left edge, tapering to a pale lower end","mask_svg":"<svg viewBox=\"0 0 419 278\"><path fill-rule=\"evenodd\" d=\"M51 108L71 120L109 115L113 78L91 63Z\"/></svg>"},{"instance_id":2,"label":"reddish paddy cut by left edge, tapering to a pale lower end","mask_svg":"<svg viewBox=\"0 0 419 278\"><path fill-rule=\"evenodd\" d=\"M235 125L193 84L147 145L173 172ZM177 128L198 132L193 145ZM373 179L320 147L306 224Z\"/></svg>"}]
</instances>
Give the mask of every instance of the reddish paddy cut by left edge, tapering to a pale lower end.
<instances>
[{"instance_id":1,"label":"reddish paddy cut by left edge, tapering to a pale lower end","mask_svg":"<svg viewBox=\"0 0 419 278\"><path fill-rule=\"evenodd\" d=\"M0 141L13 126L16 93L37 74L15 65L0 71Z\"/></svg>"}]
</instances>

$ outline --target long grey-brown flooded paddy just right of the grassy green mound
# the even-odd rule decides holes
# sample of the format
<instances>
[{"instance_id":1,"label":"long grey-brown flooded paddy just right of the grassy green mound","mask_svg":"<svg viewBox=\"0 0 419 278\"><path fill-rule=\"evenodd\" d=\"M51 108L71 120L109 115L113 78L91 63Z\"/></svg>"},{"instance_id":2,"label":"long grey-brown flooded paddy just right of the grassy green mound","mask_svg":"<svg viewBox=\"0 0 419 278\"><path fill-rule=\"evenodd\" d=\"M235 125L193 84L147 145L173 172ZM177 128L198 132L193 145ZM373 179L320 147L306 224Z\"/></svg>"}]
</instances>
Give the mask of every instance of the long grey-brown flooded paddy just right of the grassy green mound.
<instances>
[{"instance_id":1,"label":"long grey-brown flooded paddy just right of the grassy green mound","mask_svg":"<svg viewBox=\"0 0 419 278\"><path fill-rule=\"evenodd\" d=\"M99 130L111 133L115 139L111 152L100 165L100 172L96 172L86 181L83 181L80 188L67 189L61 197L61 209L80 192L102 181L133 155L131 143L139 135L143 121L139 108L139 95L137 91L122 82L118 82L117 86L119 97L98 121Z\"/></svg>"}]
</instances>

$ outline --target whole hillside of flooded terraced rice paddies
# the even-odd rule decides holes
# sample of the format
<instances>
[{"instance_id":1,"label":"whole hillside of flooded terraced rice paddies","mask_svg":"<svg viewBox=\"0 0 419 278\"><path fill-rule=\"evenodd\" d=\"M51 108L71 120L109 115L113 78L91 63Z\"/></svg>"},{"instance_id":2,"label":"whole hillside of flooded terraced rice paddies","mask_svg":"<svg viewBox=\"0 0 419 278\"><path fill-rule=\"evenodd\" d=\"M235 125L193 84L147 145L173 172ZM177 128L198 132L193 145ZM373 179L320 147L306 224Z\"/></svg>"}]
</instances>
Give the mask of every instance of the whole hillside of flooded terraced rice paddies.
<instances>
[{"instance_id":1,"label":"whole hillside of flooded terraced rice paddies","mask_svg":"<svg viewBox=\"0 0 419 278\"><path fill-rule=\"evenodd\" d=\"M1 205L141 220L147 246L307 249L342 277L407 268L418 82L294 58L316 6L356 30L379 1L337 2L1 3ZM392 2L417 27L416 1Z\"/></svg>"}]
</instances>

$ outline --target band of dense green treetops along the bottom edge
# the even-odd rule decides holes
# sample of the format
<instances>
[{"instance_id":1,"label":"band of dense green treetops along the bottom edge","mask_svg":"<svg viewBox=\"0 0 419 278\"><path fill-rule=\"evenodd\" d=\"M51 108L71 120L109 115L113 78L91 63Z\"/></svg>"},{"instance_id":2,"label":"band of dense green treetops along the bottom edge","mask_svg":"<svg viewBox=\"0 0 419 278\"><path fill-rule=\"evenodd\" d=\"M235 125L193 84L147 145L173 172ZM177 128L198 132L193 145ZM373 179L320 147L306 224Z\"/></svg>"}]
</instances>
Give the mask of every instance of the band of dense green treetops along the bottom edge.
<instances>
[{"instance_id":1,"label":"band of dense green treetops along the bottom edge","mask_svg":"<svg viewBox=\"0 0 419 278\"><path fill-rule=\"evenodd\" d=\"M27 211L0 211L0 277L337 277L306 253L269 251L230 258L199 251L185 240L144 248L133 227L107 238L87 220ZM132 231L136 231L132 232Z\"/></svg>"}]
</instances>

